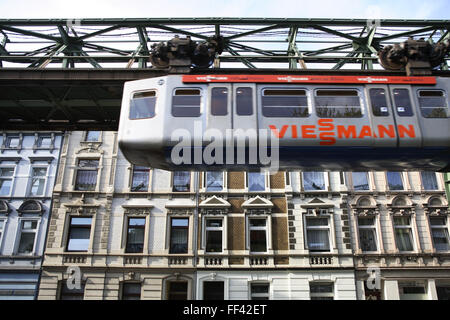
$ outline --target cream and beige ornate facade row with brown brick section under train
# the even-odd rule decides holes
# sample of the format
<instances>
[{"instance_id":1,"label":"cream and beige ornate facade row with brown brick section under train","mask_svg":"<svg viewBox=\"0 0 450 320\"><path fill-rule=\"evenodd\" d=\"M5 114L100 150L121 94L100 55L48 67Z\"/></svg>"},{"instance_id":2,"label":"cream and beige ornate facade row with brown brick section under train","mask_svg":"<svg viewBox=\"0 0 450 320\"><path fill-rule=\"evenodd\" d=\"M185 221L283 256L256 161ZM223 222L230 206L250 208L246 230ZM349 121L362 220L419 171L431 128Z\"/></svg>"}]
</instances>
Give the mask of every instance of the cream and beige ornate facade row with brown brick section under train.
<instances>
[{"instance_id":1,"label":"cream and beige ornate facade row with brown brick section under train","mask_svg":"<svg viewBox=\"0 0 450 320\"><path fill-rule=\"evenodd\" d=\"M400 299L422 290L412 282L425 283L414 297L437 299L447 290L441 174L168 172L131 165L116 132L71 132L53 202L39 299Z\"/></svg>"}]
</instances>

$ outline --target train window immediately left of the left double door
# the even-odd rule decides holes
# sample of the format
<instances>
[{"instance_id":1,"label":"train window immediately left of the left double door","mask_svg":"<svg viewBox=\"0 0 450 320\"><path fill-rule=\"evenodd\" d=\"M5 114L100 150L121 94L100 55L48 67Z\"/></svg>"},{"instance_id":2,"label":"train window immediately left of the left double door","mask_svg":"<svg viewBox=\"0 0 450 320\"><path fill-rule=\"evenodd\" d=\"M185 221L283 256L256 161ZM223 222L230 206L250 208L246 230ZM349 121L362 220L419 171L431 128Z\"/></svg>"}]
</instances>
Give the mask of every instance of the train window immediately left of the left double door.
<instances>
[{"instance_id":1,"label":"train window immediately left of the left double door","mask_svg":"<svg viewBox=\"0 0 450 320\"><path fill-rule=\"evenodd\" d=\"M172 97L172 115L174 117L199 117L200 100L200 89L176 89Z\"/></svg>"}]
</instances>

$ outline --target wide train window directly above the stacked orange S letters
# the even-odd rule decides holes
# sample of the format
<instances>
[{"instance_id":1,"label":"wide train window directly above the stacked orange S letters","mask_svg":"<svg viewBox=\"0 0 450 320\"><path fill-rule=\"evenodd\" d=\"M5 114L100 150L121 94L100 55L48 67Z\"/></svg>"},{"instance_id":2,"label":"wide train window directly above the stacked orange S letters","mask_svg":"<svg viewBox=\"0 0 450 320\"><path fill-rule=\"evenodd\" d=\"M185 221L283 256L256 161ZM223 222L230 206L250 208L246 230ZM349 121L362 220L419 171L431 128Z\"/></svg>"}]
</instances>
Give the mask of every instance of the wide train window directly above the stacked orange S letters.
<instances>
[{"instance_id":1,"label":"wide train window directly above the stacked orange S letters","mask_svg":"<svg viewBox=\"0 0 450 320\"><path fill-rule=\"evenodd\" d=\"M317 90L316 113L321 118L361 118L361 103L356 90Z\"/></svg>"}]
</instances>

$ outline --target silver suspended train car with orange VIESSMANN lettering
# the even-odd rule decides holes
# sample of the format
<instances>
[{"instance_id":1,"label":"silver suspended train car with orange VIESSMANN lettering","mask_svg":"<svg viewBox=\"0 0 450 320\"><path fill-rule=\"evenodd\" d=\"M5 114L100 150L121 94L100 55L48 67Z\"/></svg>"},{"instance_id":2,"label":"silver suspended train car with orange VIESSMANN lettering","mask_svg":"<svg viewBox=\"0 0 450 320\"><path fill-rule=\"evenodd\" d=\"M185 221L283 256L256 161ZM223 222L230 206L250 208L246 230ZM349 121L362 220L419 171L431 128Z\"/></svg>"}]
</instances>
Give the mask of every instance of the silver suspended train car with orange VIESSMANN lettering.
<instances>
[{"instance_id":1,"label":"silver suspended train car with orange VIESSMANN lettering","mask_svg":"<svg viewBox=\"0 0 450 320\"><path fill-rule=\"evenodd\" d=\"M450 78L167 75L126 82L119 147L166 170L446 171Z\"/></svg>"}]
</instances>

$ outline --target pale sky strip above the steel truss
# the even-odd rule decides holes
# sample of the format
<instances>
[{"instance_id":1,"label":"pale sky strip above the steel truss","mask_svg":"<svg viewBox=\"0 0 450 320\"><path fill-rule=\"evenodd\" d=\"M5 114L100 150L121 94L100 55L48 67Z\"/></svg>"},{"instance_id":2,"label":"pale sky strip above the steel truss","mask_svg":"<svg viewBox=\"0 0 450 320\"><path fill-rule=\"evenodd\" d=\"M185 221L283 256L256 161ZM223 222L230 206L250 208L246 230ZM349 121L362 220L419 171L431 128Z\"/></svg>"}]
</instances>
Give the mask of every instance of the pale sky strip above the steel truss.
<instances>
[{"instance_id":1,"label":"pale sky strip above the steel truss","mask_svg":"<svg viewBox=\"0 0 450 320\"><path fill-rule=\"evenodd\" d=\"M449 0L0 0L1 18L450 19Z\"/></svg>"}]
</instances>

